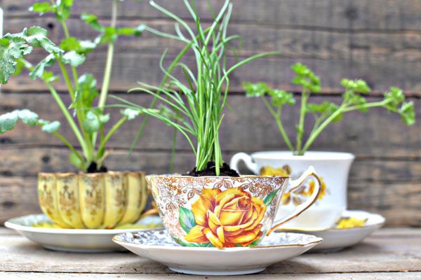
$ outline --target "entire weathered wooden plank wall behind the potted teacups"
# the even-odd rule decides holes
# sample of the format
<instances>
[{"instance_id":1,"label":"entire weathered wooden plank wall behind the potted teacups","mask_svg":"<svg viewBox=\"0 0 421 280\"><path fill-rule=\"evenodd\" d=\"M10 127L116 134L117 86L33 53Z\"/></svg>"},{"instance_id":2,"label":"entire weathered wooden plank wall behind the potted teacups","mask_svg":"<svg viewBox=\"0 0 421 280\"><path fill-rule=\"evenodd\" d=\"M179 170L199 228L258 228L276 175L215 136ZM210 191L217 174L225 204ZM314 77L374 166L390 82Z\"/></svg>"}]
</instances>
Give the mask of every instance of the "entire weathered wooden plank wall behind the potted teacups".
<instances>
[{"instance_id":1,"label":"entire weathered wooden plank wall behind the potted teacups","mask_svg":"<svg viewBox=\"0 0 421 280\"><path fill-rule=\"evenodd\" d=\"M107 0L109 1L109 0ZM109 5L105 0L76 1L74 16L69 20L72 34L93 38L92 31L78 18L82 11L97 13L107 24ZM39 18L27 12L32 0L0 0L6 16L5 31L18 32L23 27L40 25L51 32L51 38L62 37L59 25L51 16ZM169 10L189 19L180 0L157 1ZM198 1L202 20L210 22L206 1ZM221 0L212 0L215 8ZM173 31L173 22L149 6L126 0L120 5L121 26L141 23ZM230 104L222 127L222 148L225 160L239 151L282 150L283 144L276 125L258 99L243 96L241 81L266 81L274 87L298 90L290 85L293 62L311 66L322 78L323 94L314 102L328 99L340 102L341 78L363 78L373 88L370 100L380 99L390 85L406 90L415 103L417 124L403 125L398 116L382 109L369 115L349 113L339 125L331 125L314 143L318 151L346 151L357 158L349 179L349 208L375 211L387 217L388 225L421 225L421 1L419 0L235 0L232 34L243 36L241 57L266 50L281 50L281 55L253 62L232 76ZM158 67L161 52L168 48L168 59L180 50L173 41L144 34L141 38L119 41L114 59L112 92L123 95L136 81L157 84L162 73ZM33 61L43 52L35 52ZM232 61L234 57L231 57ZM84 71L100 78L104 68L105 49L100 48L88 58ZM192 63L192 57L185 59ZM63 85L58 85L65 90ZM62 97L67 104L65 92ZM147 105L145 94L125 96ZM2 88L0 113L18 108L36 111L42 118L65 123L46 88L25 76L13 78ZM286 110L284 118L293 134L296 110ZM114 123L119 113L112 114ZM127 123L109 146L110 169L142 169L147 172L168 172L171 129L151 120L145 137L135 153L127 158L126 151L138 131L140 118ZM70 139L67 128L63 134ZM180 137L176 171L185 172L194 165L189 146ZM36 202L37 172L68 171L67 150L48 134L22 125L0 136L0 222L12 216L39 211Z\"/></svg>"}]
</instances>

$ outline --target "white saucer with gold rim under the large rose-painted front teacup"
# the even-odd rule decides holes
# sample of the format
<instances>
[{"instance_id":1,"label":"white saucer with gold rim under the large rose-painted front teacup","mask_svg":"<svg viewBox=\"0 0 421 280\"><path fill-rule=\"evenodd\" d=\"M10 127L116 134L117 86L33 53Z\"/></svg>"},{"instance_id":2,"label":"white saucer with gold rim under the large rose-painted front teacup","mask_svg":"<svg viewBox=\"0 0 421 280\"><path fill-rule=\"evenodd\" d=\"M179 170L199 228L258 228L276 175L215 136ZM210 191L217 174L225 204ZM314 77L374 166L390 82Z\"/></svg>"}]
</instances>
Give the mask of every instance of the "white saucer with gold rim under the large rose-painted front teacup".
<instances>
[{"instance_id":1,"label":"white saucer with gold rim under the large rose-painted front teacup","mask_svg":"<svg viewBox=\"0 0 421 280\"><path fill-rule=\"evenodd\" d=\"M196 275L241 275L262 272L269 265L293 258L321 243L313 235L293 232L272 233L254 247L184 247L166 230L126 232L113 241L136 255L161 262L169 269Z\"/></svg>"}]
</instances>

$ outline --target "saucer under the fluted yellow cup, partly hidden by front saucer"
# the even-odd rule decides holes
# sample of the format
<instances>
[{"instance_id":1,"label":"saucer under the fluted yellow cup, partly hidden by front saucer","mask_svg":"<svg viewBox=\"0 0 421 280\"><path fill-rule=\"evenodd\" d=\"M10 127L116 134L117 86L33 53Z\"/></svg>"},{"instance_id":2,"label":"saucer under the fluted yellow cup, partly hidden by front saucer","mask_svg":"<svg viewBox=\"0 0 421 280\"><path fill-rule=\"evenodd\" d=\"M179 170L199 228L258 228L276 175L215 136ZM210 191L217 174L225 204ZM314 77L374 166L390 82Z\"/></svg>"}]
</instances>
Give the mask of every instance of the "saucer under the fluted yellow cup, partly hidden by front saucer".
<instances>
[{"instance_id":1,"label":"saucer under the fluted yellow cup, partly hidden by front saucer","mask_svg":"<svg viewBox=\"0 0 421 280\"><path fill-rule=\"evenodd\" d=\"M75 230L55 228L44 214L34 214L11 218L4 225L44 248L55 251L98 253L123 249L112 241L114 235L162 228L162 221L159 216L146 216L134 225L123 225L113 230Z\"/></svg>"}]
</instances>

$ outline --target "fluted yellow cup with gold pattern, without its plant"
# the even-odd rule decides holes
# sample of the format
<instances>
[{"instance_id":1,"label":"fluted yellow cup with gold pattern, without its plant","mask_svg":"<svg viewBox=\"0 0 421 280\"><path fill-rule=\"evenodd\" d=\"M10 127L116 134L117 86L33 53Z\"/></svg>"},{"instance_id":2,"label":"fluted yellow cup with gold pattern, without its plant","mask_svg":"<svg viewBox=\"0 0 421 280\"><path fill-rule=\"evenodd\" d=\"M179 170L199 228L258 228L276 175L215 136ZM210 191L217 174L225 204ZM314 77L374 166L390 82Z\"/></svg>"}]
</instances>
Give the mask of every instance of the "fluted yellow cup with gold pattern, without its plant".
<instances>
[{"instance_id":1,"label":"fluted yellow cup with gold pattern, without its plant","mask_svg":"<svg viewBox=\"0 0 421 280\"><path fill-rule=\"evenodd\" d=\"M142 172L38 176L39 206L62 228L111 229L135 223L145 209L147 197Z\"/></svg>"}]
</instances>

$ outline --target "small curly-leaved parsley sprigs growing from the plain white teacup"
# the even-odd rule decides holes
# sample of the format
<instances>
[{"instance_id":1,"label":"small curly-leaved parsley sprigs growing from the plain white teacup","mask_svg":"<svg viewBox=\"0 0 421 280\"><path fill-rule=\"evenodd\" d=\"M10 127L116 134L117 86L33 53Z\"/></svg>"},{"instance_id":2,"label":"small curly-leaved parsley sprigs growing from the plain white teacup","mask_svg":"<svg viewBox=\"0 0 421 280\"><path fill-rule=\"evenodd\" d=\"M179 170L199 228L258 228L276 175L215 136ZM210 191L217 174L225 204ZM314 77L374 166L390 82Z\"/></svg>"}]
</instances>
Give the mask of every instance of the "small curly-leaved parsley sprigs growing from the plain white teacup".
<instances>
[{"instance_id":1,"label":"small curly-leaved parsley sprigs growing from the plain white teacup","mask_svg":"<svg viewBox=\"0 0 421 280\"><path fill-rule=\"evenodd\" d=\"M365 113L370 108L382 107L389 112L398 113L406 125L413 125L415 123L413 102L406 102L405 94L397 87L390 87L389 91L385 92L382 101L367 102L363 95L369 94L371 89L364 80L342 79L341 85L344 87L344 92L340 104L327 101L321 102L320 104L309 103L312 93L317 94L321 92L319 76L316 76L313 71L301 63L293 64L291 69L295 73L295 77L292 80L293 84L302 87L300 118L298 124L295 126L295 146L293 145L293 141L288 137L281 118L283 106L295 105L294 94L285 90L274 90L266 83L243 83L243 87L248 97L260 97L262 99L263 104L265 104L267 110L276 121L283 141L295 155L304 155L321 132L331 123L340 122L343 115L347 112L361 111ZM267 96L270 98L270 102ZM314 126L309 133L307 141L303 141L307 114L314 116Z\"/></svg>"}]
</instances>

